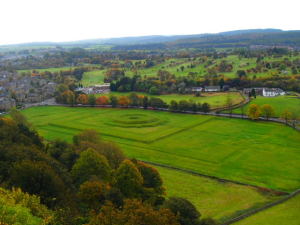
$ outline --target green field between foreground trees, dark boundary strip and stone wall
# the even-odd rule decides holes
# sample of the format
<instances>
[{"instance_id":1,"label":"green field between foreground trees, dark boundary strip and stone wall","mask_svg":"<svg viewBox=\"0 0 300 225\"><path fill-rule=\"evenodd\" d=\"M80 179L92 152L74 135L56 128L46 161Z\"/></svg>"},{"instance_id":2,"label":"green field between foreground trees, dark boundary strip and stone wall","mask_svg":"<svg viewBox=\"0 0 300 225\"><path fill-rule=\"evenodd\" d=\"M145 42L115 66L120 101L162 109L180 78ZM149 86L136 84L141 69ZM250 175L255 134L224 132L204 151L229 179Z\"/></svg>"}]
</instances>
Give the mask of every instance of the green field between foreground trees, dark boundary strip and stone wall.
<instances>
[{"instance_id":1,"label":"green field between foreground trees, dark boundary strip and stone wall","mask_svg":"<svg viewBox=\"0 0 300 225\"><path fill-rule=\"evenodd\" d=\"M224 221L236 213L260 206L275 197L263 195L256 189L223 183L185 172L156 167L161 174L167 196L189 199L203 217Z\"/></svg>"}]
</instances>

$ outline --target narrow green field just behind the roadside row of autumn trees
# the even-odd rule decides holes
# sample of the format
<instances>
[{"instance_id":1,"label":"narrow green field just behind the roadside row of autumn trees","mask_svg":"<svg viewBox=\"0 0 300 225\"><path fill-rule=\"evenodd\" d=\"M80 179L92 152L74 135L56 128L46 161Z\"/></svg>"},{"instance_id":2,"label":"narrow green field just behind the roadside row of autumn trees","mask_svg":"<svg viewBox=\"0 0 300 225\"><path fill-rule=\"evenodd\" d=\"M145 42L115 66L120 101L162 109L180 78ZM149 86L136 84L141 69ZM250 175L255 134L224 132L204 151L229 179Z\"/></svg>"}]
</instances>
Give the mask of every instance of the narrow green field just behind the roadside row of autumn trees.
<instances>
[{"instance_id":1,"label":"narrow green field just behind the roadside row of autumn trees","mask_svg":"<svg viewBox=\"0 0 300 225\"><path fill-rule=\"evenodd\" d=\"M131 92L112 92L107 95L116 95L116 96L124 96L129 95ZM218 92L218 93L203 93L201 97L195 97L191 94L167 94L167 95L150 95L147 93L137 92L138 95L144 95L148 97L158 97L161 98L164 102L170 103L172 100L177 102L181 100L193 101L196 103L204 103L207 102L210 104L211 108L219 108L223 107L226 104L226 100L230 97L233 101L233 104L238 104L244 101L244 97L239 92ZM97 95L101 96L101 95Z\"/></svg>"}]
</instances>

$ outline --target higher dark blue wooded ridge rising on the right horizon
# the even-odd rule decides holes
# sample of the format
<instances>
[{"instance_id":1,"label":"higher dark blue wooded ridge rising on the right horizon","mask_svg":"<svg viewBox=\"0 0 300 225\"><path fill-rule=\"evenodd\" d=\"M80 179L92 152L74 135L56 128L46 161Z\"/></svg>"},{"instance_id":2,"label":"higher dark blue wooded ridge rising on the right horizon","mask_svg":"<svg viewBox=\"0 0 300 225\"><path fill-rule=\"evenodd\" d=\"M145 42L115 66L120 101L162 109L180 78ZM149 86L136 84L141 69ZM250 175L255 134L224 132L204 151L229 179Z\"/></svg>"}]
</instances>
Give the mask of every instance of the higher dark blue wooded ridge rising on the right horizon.
<instances>
[{"instance_id":1,"label":"higher dark blue wooded ridge rising on the right horizon","mask_svg":"<svg viewBox=\"0 0 300 225\"><path fill-rule=\"evenodd\" d=\"M206 34L196 37L181 37L174 41L143 45L119 45L113 49L154 49L154 48L228 48L228 47L294 47L300 48L300 31L282 31L277 29L266 30L239 30L217 34Z\"/></svg>"}]
</instances>

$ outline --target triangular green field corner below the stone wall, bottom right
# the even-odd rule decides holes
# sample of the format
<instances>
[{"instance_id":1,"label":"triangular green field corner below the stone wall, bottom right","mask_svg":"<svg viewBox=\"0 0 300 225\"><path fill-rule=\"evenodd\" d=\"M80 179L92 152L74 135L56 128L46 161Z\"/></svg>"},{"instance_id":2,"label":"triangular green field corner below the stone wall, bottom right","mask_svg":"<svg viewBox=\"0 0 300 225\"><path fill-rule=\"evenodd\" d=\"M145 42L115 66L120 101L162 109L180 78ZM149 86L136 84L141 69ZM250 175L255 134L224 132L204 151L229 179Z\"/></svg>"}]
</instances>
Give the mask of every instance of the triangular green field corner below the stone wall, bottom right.
<instances>
[{"instance_id":1,"label":"triangular green field corner below the stone wall, bottom right","mask_svg":"<svg viewBox=\"0 0 300 225\"><path fill-rule=\"evenodd\" d=\"M300 195L241 220L235 225L299 225Z\"/></svg>"}]
</instances>

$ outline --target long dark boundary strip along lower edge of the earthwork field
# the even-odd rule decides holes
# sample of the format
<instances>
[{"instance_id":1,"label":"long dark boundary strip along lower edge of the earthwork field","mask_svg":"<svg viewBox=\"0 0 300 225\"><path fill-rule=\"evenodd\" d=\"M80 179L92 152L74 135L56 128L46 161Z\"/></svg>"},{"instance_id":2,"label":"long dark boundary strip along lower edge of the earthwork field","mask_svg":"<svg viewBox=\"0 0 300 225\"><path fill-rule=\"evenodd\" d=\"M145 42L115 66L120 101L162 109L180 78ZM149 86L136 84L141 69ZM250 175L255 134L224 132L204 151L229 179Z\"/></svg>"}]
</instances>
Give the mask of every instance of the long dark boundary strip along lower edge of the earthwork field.
<instances>
[{"instance_id":1,"label":"long dark boundary strip along lower edge of the earthwork field","mask_svg":"<svg viewBox=\"0 0 300 225\"><path fill-rule=\"evenodd\" d=\"M219 177L216 177L216 176L207 175L207 174L195 172L195 171L188 170L188 169L178 168L178 167L174 167L174 166L170 166L170 165L165 165L165 164L160 164L160 163L155 163L155 162L149 162L149 161L144 161L144 160L139 160L139 161L144 162L144 163L148 163L148 164L153 165L153 166L158 166L158 167L163 167L163 168L167 168L167 169L177 170L177 171L184 172L184 173L189 173L189 174L192 174L192 175L195 175L195 176L199 176L199 177L206 177L206 178L213 179L213 180L216 180L216 181L219 181L219 182L223 182L223 183L238 184L238 185L243 185L243 186L247 186L247 187L256 188L256 189L259 189L259 190L267 189L267 190L269 190L271 192L275 192L275 193L278 193L280 195L288 195L288 194L290 194L288 192L284 192L284 191L280 191L280 190L275 190L275 189L271 189L271 188L265 188L265 187L261 187L261 186L254 185L254 184L247 184L247 183L243 183L243 182L235 181L235 180L229 180L229 179L219 178ZM300 192L300 190L299 190L299 192Z\"/></svg>"}]
</instances>

